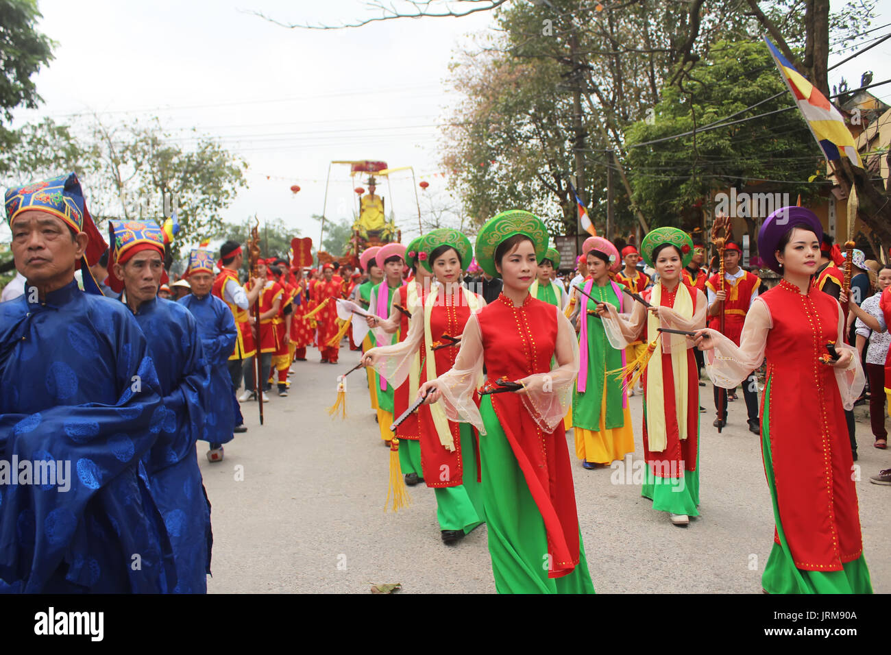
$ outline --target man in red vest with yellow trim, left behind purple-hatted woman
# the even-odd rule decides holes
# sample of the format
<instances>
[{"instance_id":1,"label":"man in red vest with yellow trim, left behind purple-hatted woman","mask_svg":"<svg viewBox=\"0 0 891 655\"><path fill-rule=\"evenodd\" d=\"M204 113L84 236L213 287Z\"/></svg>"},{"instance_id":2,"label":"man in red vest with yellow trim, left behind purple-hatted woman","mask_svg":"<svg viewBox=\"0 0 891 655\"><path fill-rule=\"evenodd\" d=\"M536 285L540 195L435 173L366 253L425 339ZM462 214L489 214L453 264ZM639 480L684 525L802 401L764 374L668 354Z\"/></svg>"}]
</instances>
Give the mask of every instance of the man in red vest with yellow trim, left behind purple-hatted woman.
<instances>
[{"instance_id":1,"label":"man in red vest with yellow trim, left behind purple-hatted woman","mask_svg":"<svg viewBox=\"0 0 891 655\"><path fill-rule=\"evenodd\" d=\"M721 291L721 281L718 274L712 275L706 282L708 301L708 327L713 330L721 329L721 303L723 302L724 330L723 334L740 345L743 323L746 323L746 314L752 305L752 300L758 297L758 288L761 280L754 273L749 273L740 266L742 249L739 243L727 242L724 246L724 282ZM715 418L714 426L721 427L727 424L727 396L719 394L715 387L715 410L717 416L723 413L724 420ZM761 423L758 421L758 381L754 373L750 374L742 384L742 395L746 399L746 412L748 413L748 430L754 434L761 434ZM723 407L719 406L719 397L723 401Z\"/></svg>"}]
</instances>

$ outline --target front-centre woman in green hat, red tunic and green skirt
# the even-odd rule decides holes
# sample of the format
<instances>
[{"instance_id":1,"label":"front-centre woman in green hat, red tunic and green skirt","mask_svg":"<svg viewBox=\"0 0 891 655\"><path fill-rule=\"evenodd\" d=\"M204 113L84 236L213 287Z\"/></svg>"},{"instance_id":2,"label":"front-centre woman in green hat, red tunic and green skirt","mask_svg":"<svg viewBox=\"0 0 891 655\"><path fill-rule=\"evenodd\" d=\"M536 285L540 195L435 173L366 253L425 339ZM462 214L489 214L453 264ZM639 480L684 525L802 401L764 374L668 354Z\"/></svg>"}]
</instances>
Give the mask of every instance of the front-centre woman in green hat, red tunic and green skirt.
<instances>
[{"instance_id":1,"label":"front-centre woman in green hat, red tunic and green skirt","mask_svg":"<svg viewBox=\"0 0 891 655\"><path fill-rule=\"evenodd\" d=\"M547 243L544 223L527 211L483 225L477 262L503 278L503 291L470 315L452 368L418 392L430 408L479 430L489 554L502 594L594 591L561 424L578 373L576 335L559 307L529 293Z\"/></svg>"}]
</instances>

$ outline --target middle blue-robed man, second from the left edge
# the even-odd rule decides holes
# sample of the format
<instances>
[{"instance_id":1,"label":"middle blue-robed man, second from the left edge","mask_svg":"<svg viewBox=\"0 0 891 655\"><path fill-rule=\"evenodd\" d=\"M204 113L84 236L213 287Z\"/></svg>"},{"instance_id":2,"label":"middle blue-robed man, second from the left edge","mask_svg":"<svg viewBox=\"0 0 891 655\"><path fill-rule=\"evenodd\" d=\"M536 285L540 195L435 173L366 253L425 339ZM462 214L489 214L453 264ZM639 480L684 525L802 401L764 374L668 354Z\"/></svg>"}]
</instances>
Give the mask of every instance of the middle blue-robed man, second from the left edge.
<instances>
[{"instance_id":1,"label":"middle blue-robed man, second from the left edge","mask_svg":"<svg viewBox=\"0 0 891 655\"><path fill-rule=\"evenodd\" d=\"M209 370L198 325L185 307L158 297L164 239L158 225L110 221L109 285L149 342L160 382L158 441L143 463L173 546L174 593L206 594L210 572L210 504L195 453L208 415Z\"/></svg>"}]
</instances>

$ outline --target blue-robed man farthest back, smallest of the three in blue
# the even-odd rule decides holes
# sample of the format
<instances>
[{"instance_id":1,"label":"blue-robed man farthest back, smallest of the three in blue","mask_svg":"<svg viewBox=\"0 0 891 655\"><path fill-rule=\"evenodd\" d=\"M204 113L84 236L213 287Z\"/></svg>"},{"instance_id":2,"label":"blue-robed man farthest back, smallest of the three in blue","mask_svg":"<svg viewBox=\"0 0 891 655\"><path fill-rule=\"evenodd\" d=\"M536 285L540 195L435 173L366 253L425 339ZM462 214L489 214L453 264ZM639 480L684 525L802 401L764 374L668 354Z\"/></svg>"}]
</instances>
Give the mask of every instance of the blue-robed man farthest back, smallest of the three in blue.
<instances>
[{"instance_id":1,"label":"blue-robed man farthest back, smallest of the three in blue","mask_svg":"<svg viewBox=\"0 0 891 655\"><path fill-rule=\"evenodd\" d=\"M210 392L201 438L210 443L208 460L222 462L223 444L233 439L236 423L242 422L241 412L237 417L235 415L238 399L229 374L229 356L238 339L238 328L229 307L210 292L214 284L213 253L192 250L186 276L192 293L178 302L195 317L204 358L210 366Z\"/></svg>"}]
</instances>

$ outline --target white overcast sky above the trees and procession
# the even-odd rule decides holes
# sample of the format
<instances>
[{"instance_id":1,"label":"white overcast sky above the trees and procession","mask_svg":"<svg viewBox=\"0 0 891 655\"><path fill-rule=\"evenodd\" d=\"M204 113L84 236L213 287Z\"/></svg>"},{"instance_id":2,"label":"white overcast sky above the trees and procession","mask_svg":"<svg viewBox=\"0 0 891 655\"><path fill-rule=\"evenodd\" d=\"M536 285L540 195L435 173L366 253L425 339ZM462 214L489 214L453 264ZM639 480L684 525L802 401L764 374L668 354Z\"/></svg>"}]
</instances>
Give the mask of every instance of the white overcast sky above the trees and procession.
<instances>
[{"instance_id":1,"label":"white overcast sky above the trees and procession","mask_svg":"<svg viewBox=\"0 0 891 655\"><path fill-rule=\"evenodd\" d=\"M331 160L412 166L429 192L445 187L432 175L440 172L436 126L456 100L444 85L448 62L463 35L491 29L488 12L331 31L284 29L249 13L339 24L364 15L360 0L40 0L39 7L40 29L58 45L36 77L44 104L17 111L17 122L94 111L108 121L158 116L184 145L196 127L249 162L249 189L227 220L282 217L314 242L311 215L322 213ZM871 27L886 27L858 41L891 31L891 0L879 0L878 11ZM850 53L831 55L830 65ZM891 77L888 61L891 40L831 71L830 86L842 75L859 86L863 70L875 81ZM891 103L891 84L874 93ZM290 192L292 184L301 191ZM85 186L89 192L89 180ZM354 186L348 168L332 168L329 217L347 217ZM405 233L417 231L414 188L408 174L379 188Z\"/></svg>"}]
</instances>

